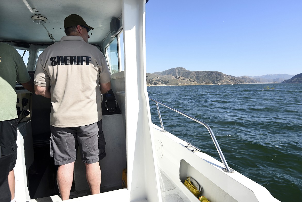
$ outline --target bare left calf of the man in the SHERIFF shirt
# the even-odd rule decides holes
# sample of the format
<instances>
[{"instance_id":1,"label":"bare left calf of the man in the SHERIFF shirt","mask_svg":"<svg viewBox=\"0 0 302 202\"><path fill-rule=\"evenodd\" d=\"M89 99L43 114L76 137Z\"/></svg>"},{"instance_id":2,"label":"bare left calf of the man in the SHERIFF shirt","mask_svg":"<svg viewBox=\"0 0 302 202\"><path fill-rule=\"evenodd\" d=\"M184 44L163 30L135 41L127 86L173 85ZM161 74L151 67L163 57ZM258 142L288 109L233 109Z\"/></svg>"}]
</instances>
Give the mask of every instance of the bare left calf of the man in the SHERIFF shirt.
<instances>
[{"instance_id":1,"label":"bare left calf of the man in the SHERIFF shirt","mask_svg":"<svg viewBox=\"0 0 302 202\"><path fill-rule=\"evenodd\" d=\"M75 162L59 165L57 183L62 200L68 200L73 180L73 166Z\"/></svg>"}]
</instances>

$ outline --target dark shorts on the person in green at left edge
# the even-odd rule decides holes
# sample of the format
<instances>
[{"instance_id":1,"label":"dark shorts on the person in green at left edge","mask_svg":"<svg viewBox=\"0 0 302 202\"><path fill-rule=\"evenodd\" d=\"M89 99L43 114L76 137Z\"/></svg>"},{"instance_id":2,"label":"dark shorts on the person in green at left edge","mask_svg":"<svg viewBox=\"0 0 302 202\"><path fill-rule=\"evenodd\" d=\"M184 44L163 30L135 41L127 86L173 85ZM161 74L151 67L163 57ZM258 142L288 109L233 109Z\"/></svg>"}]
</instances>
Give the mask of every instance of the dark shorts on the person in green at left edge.
<instances>
[{"instance_id":1,"label":"dark shorts on the person in green at left edge","mask_svg":"<svg viewBox=\"0 0 302 202\"><path fill-rule=\"evenodd\" d=\"M0 121L0 146L3 156L12 154L9 170L13 170L17 160L18 118Z\"/></svg>"}]
</instances>

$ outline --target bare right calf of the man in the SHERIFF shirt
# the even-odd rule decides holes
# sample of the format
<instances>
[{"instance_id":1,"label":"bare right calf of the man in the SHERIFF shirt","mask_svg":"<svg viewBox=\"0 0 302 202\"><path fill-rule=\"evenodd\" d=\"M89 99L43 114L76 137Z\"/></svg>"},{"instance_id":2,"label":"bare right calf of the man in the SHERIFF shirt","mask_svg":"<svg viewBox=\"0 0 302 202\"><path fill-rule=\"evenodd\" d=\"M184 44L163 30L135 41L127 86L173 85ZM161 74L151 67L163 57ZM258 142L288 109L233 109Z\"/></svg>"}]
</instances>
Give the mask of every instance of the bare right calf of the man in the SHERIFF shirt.
<instances>
[{"instance_id":1,"label":"bare right calf of the man in the SHERIFF shirt","mask_svg":"<svg viewBox=\"0 0 302 202\"><path fill-rule=\"evenodd\" d=\"M86 166L86 178L90 188L91 194L99 194L101 187L101 169L98 162L87 164Z\"/></svg>"}]
</instances>

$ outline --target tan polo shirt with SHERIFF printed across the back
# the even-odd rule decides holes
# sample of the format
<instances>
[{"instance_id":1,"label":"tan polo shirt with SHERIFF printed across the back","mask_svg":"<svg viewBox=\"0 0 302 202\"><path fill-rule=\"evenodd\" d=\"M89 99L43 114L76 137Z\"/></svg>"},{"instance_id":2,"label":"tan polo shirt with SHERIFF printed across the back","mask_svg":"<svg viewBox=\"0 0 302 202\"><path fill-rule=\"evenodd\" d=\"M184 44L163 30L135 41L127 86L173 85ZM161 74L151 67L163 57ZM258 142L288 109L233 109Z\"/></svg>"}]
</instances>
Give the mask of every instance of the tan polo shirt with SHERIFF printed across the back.
<instances>
[{"instance_id":1,"label":"tan polo shirt with SHERIFF printed across the back","mask_svg":"<svg viewBox=\"0 0 302 202\"><path fill-rule=\"evenodd\" d=\"M79 36L65 36L38 58L34 84L50 86L50 125L77 127L102 119L100 83L110 82L106 59Z\"/></svg>"}]
</instances>

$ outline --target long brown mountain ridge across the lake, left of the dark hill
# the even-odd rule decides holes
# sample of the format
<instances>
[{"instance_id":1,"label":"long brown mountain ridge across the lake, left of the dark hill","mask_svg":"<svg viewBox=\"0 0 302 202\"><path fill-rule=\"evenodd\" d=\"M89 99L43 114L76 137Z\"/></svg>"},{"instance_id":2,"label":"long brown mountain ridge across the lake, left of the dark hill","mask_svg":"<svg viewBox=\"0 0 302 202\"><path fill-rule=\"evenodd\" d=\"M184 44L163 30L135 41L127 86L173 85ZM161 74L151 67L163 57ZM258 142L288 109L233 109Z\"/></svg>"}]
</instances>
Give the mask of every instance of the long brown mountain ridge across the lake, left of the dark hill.
<instances>
[{"instance_id":1,"label":"long brown mountain ridge across the lake, left of the dark hill","mask_svg":"<svg viewBox=\"0 0 302 202\"><path fill-rule=\"evenodd\" d=\"M147 85L213 85L246 83L280 83L291 78L288 74L235 77L217 71L189 71L183 67L171 68L162 72L147 73Z\"/></svg>"}]
</instances>

